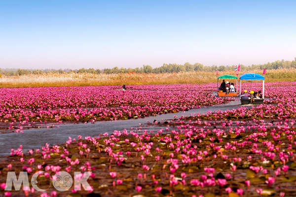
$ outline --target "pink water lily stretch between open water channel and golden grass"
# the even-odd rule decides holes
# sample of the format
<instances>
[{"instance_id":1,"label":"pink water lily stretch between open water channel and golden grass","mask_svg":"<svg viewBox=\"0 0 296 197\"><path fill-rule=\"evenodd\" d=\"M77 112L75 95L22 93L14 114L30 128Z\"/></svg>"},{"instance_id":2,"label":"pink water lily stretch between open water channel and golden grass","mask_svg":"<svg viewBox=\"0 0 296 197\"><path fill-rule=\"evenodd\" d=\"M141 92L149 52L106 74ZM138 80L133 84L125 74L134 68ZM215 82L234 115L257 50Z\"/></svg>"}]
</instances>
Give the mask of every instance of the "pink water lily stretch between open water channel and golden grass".
<instances>
[{"instance_id":1,"label":"pink water lily stretch between open water channel and golden grass","mask_svg":"<svg viewBox=\"0 0 296 197\"><path fill-rule=\"evenodd\" d=\"M22 131L36 123L66 123L143 118L226 103L213 84L143 85L122 91L118 86L1 88L2 129ZM21 125L21 126L18 126Z\"/></svg>"}]
</instances>

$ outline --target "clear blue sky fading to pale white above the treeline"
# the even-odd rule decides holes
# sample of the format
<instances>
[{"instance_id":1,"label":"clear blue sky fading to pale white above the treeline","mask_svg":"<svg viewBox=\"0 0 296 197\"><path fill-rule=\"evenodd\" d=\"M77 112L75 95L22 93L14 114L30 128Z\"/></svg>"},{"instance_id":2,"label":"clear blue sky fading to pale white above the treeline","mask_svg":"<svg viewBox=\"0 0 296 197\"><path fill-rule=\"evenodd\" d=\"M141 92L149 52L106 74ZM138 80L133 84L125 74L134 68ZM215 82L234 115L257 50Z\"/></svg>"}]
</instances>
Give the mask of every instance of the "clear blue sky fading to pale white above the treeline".
<instances>
[{"instance_id":1,"label":"clear blue sky fading to pale white above the treeline","mask_svg":"<svg viewBox=\"0 0 296 197\"><path fill-rule=\"evenodd\" d=\"M296 0L1 0L0 67L292 61L295 7Z\"/></svg>"}]
</instances>

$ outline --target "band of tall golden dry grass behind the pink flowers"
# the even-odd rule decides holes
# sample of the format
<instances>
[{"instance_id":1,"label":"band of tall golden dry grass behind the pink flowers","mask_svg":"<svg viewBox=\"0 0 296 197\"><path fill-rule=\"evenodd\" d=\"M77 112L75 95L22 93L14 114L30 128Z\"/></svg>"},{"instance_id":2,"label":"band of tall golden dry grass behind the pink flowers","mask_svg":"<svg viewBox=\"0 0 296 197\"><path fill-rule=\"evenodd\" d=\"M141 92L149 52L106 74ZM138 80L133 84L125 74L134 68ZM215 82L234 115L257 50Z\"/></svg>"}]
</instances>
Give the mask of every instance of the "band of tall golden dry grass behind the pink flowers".
<instances>
[{"instance_id":1,"label":"band of tall golden dry grass behind the pink flowers","mask_svg":"<svg viewBox=\"0 0 296 197\"><path fill-rule=\"evenodd\" d=\"M248 72L262 74L262 70ZM239 74L245 73L240 71ZM219 76L234 71L222 71ZM296 69L267 70L265 82L296 81ZM1 76L0 87L45 87L45 86L100 86L100 85L140 85L140 84L180 84L180 83L215 83L215 72L180 72L180 73L119 73L119 74L91 74L91 73L45 73L21 76Z\"/></svg>"}]
</instances>

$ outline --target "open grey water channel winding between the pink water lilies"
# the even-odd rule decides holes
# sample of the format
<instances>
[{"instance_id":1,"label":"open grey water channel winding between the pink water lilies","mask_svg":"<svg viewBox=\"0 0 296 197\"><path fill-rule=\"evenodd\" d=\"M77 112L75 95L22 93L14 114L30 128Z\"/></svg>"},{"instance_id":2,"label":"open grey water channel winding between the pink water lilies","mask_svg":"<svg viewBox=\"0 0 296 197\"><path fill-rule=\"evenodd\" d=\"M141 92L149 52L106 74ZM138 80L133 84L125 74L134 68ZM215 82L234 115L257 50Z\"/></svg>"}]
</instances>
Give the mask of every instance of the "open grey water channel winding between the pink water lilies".
<instances>
[{"instance_id":1,"label":"open grey water channel winding between the pink water lilies","mask_svg":"<svg viewBox=\"0 0 296 197\"><path fill-rule=\"evenodd\" d=\"M0 155L7 155L10 150L17 149L19 145L23 145L23 150L27 151L29 149L41 148L45 143L50 145L56 145L59 143L65 143L68 137L77 139L77 135L85 136L98 136L100 133L113 132L114 130L123 131L124 129L130 130L130 128L139 128L141 126L143 129L145 127L148 130L156 130L159 127L154 127L153 129L147 125L148 121L152 123L154 120L161 122L167 119L174 119L174 116L190 116L190 114L200 113L206 114L207 111L214 110L232 110L241 107L240 100L230 101L227 104L215 105L209 107L201 107L199 109L191 109L185 112L179 112L175 114L162 114L158 116L151 116L141 119L130 119L130 120L117 120L117 121L105 121L105 122L95 122L95 124L57 124L55 128L42 128L42 129L30 129L25 130L23 133L9 132L0 134ZM244 105L248 106L248 105ZM249 105L251 107L251 105ZM146 124L146 126L145 126ZM59 127L57 127L59 126ZM134 130L135 131L135 130Z\"/></svg>"}]
</instances>

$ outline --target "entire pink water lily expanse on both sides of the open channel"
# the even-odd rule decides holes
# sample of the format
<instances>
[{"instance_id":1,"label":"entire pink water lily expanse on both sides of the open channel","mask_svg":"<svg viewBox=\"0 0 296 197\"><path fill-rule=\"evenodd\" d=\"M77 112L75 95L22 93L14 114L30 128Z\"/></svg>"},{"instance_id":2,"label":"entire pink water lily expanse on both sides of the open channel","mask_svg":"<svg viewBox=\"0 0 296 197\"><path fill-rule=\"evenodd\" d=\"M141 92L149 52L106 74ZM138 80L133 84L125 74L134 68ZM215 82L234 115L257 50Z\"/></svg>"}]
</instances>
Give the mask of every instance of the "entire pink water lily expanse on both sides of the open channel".
<instances>
[{"instance_id":1,"label":"entire pink water lily expanse on both sides of the open channel","mask_svg":"<svg viewBox=\"0 0 296 197\"><path fill-rule=\"evenodd\" d=\"M261 90L244 83L242 90ZM0 89L0 121L14 131L39 122L141 118L227 103L217 84ZM208 111L64 144L11 150L0 163L5 197L294 197L296 191L296 82L265 84L262 105ZM173 118L174 117L174 118ZM160 128L150 131L148 128ZM8 128L9 129L9 128ZM20 129L19 129L20 130ZM50 130L50 129L49 129ZM152 130L152 129L151 129ZM19 137L24 133L16 133ZM32 136L34 138L34 136ZM40 188L55 174L90 172L89 187L58 192L4 191L8 172L34 173Z\"/></svg>"}]
</instances>

